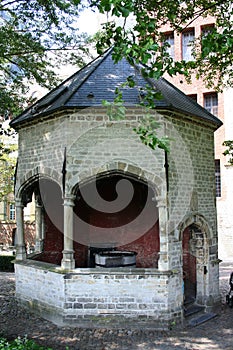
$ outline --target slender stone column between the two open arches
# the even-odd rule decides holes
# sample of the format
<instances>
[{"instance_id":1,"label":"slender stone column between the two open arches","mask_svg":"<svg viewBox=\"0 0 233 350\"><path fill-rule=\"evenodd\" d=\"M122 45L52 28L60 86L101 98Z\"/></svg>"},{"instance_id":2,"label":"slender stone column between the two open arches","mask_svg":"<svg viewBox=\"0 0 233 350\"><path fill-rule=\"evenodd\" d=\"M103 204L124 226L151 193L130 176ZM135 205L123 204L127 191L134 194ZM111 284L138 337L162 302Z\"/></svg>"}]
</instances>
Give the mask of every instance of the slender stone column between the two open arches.
<instances>
[{"instance_id":1,"label":"slender stone column between the two open arches","mask_svg":"<svg viewBox=\"0 0 233 350\"><path fill-rule=\"evenodd\" d=\"M75 268L73 248L73 207L75 196L64 197L64 250L61 267L65 270Z\"/></svg>"}]
</instances>

